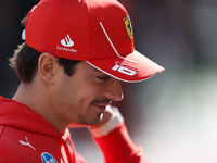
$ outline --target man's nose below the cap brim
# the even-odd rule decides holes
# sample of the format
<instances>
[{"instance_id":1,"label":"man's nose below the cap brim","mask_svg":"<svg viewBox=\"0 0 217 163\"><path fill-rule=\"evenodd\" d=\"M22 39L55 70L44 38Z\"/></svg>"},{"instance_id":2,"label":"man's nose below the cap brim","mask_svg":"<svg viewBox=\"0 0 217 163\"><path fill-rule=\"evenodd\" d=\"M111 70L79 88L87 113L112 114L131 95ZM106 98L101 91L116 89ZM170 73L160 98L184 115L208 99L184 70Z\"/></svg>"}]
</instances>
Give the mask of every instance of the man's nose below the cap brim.
<instances>
[{"instance_id":1,"label":"man's nose below the cap brim","mask_svg":"<svg viewBox=\"0 0 217 163\"><path fill-rule=\"evenodd\" d=\"M108 85L106 87L105 97L113 101L120 101L124 99L122 84L118 79L110 79Z\"/></svg>"}]
</instances>

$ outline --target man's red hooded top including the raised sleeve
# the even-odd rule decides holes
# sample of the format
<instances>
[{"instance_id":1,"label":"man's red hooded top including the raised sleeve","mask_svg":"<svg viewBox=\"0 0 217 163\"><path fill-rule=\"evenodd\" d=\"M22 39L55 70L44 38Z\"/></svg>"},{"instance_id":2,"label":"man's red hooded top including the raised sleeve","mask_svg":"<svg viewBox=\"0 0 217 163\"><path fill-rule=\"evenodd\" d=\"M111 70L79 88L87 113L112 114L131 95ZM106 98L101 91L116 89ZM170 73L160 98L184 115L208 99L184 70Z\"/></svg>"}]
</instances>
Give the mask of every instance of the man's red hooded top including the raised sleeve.
<instances>
[{"instance_id":1,"label":"man's red hooded top including the raised sleeve","mask_svg":"<svg viewBox=\"0 0 217 163\"><path fill-rule=\"evenodd\" d=\"M106 163L149 163L133 145L124 123L93 138ZM87 163L64 135L27 105L0 97L0 163Z\"/></svg>"}]
</instances>

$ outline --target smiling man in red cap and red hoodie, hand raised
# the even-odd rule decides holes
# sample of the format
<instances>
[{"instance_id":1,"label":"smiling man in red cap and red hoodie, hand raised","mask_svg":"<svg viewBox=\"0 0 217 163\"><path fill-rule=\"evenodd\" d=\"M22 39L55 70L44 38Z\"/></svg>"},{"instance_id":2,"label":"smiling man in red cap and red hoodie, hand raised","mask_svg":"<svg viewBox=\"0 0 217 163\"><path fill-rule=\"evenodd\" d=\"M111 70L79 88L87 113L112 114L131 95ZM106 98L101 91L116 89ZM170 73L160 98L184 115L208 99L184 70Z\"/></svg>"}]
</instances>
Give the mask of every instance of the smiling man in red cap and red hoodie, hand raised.
<instances>
[{"instance_id":1,"label":"smiling man in red cap and red hoodie, hand raised","mask_svg":"<svg viewBox=\"0 0 217 163\"><path fill-rule=\"evenodd\" d=\"M67 127L86 126L107 163L146 163L112 101L120 80L164 68L133 48L132 27L115 0L41 0L25 20L11 65L21 85L0 97L0 162L86 163Z\"/></svg>"}]
</instances>

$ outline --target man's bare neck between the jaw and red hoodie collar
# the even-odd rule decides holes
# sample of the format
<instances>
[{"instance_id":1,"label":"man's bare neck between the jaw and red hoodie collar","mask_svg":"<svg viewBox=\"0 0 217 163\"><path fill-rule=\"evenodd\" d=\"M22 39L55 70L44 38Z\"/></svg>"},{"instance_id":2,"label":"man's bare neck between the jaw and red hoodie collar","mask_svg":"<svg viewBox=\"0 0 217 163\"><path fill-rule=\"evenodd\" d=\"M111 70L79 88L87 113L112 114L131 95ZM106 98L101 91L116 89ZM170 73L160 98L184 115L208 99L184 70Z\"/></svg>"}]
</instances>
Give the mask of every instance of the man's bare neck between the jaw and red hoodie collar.
<instances>
[{"instance_id":1,"label":"man's bare neck between the jaw and red hoodie collar","mask_svg":"<svg viewBox=\"0 0 217 163\"><path fill-rule=\"evenodd\" d=\"M28 108L40 114L44 120L50 122L62 135L69 125L60 118L55 112L55 105L48 96L48 90L43 87L31 86L31 84L21 83L13 100L26 104Z\"/></svg>"}]
</instances>

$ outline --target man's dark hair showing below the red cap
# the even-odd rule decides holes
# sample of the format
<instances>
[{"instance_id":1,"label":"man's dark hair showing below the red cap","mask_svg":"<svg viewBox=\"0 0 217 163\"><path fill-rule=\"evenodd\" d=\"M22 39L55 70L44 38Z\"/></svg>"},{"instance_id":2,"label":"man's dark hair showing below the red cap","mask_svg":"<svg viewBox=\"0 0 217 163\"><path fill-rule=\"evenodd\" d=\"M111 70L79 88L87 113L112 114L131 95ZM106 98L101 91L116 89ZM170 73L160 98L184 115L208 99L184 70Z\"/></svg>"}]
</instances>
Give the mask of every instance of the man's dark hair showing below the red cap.
<instances>
[{"instance_id":1,"label":"man's dark hair showing below the red cap","mask_svg":"<svg viewBox=\"0 0 217 163\"><path fill-rule=\"evenodd\" d=\"M37 73L38 59L41 52L30 48L26 42L20 45L10 58L10 66L13 67L21 82L30 83ZM64 67L65 74L72 76L75 72L75 64L81 61L59 58L59 64Z\"/></svg>"}]
</instances>

